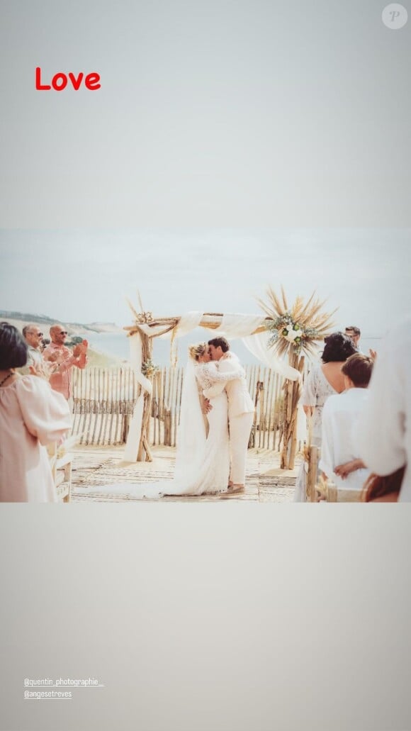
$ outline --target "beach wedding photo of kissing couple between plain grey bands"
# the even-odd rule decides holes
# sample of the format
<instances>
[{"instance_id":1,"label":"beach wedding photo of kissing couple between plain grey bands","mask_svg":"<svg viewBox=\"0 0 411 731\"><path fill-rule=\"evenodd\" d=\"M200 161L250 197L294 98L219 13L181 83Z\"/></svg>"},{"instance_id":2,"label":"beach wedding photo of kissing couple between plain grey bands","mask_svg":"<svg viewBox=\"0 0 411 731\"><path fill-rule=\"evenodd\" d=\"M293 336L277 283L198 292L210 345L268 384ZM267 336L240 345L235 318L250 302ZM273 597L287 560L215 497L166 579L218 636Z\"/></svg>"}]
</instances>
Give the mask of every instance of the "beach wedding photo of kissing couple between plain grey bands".
<instances>
[{"instance_id":1,"label":"beach wedding photo of kissing couple between plain grey bands","mask_svg":"<svg viewBox=\"0 0 411 731\"><path fill-rule=\"evenodd\" d=\"M2 502L411 500L408 230L0 239Z\"/></svg>"}]
</instances>

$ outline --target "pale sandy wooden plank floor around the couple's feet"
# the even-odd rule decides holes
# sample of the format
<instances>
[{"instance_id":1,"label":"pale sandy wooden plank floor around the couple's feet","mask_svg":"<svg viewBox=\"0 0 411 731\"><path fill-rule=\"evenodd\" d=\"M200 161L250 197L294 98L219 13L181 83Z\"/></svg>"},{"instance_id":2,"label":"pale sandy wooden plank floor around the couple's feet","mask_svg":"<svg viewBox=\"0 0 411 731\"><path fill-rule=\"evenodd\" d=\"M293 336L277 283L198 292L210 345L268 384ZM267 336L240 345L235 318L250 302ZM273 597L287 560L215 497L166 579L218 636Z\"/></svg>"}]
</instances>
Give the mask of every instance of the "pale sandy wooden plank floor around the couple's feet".
<instances>
[{"instance_id":1,"label":"pale sandy wooden plank floor around the couple's feet","mask_svg":"<svg viewBox=\"0 0 411 731\"><path fill-rule=\"evenodd\" d=\"M126 495L80 494L76 488L116 485L122 482L169 480L174 472L175 449L153 447L153 462L125 463L124 447L75 447L72 471L72 501L122 502ZM231 496L166 497L162 501L257 501L291 502L299 463L293 470L280 469L280 455L268 450L249 450L245 493Z\"/></svg>"}]
</instances>

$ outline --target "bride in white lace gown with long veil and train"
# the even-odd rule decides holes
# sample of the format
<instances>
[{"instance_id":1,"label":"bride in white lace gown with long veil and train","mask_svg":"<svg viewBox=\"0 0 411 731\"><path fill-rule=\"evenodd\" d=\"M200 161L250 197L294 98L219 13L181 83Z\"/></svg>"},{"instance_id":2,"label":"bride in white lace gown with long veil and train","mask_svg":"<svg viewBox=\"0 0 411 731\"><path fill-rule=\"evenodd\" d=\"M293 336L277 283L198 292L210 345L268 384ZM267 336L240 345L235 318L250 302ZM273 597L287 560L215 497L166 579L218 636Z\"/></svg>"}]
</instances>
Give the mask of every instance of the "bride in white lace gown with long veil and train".
<instances>
[{"instance_id":1,"label":"bride in white lace gown with long veil and train","mask_svg":"<svg viewBox=\"0 0 411 731\"><path fill-rule=\"evenodd\" d=\"M104 485L84 488L83 494L127 493L130 497L156 498L165 495L226 493L230 457L228 448L228 401L226 391L213 396L212 387L245 376L237 356L231 353L232 370L220 373L218 361L211 360L207 343L188 348L181 396L180 425L173 480L132 485ZM203 391L209 395L204 399ZM207 411L207 414L206 414ZM207 428L208 425L208 435Z\"/></svg>"}]
</instances>

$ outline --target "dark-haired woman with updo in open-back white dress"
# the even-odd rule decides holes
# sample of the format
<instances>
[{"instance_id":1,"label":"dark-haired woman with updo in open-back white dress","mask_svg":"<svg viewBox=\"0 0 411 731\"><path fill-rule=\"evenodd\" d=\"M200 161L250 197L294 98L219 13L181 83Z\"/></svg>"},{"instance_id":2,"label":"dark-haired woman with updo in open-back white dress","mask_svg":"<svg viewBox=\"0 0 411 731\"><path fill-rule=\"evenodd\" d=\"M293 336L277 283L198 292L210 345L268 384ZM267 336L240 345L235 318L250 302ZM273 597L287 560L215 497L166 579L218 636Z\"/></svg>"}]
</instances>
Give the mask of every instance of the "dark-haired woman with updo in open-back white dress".
<instances>
[{"instance_id":1,"label":"dark-haired woman with updo in open-back white dress","mask_svg":"<svg viewBox=\"0 0 411 731\"><path fill-rule=\"evenodd\" d=\"M301 404L309 420L310 443L312 446L321 446L321 419L323 406L327 398L336 393L342 393L345 388L344 375L341 366L350 355L357 352L351 338L344 333L331 333L324 338L324 349L321 355L322 363L315 363L307 378L301 393ZM294 501L305 499L305 471L301 463L296 478Z\"/></svg>"}]
</instances>

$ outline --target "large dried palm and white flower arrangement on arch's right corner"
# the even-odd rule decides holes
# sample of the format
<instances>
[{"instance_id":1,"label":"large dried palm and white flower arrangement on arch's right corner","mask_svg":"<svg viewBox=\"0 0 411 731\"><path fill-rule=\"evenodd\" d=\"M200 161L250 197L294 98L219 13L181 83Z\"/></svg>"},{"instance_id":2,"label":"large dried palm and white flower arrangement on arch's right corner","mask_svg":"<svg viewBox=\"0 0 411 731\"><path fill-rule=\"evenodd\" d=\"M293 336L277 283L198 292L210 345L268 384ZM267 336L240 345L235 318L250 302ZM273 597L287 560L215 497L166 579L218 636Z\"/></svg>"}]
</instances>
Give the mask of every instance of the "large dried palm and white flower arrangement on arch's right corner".
<instances>
[{"instance_id":1,"label":"large dried palm and white flower arrangement on arch's right corner","mask_svg":"<svg viewBox=\"0 0 411 731\"><path fill-rule=\"evenodd\" d=\"M283 287L282 300L271 287L267 294L268 303L259 300L261 308L270 318L266 320L266 329L272 333L267 347L275 348L278 355L285 355L286 352L295 355L314 353L315 341L323 340L329 333L333 325L330 318L334 313L321 314L324 303L315 299L315 292L305 304L301 297L297 297L291 308L288 307Z\"/></svg>"}]
</instances>

